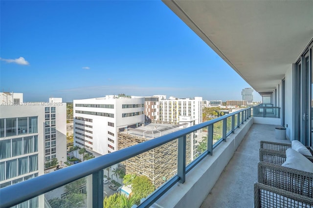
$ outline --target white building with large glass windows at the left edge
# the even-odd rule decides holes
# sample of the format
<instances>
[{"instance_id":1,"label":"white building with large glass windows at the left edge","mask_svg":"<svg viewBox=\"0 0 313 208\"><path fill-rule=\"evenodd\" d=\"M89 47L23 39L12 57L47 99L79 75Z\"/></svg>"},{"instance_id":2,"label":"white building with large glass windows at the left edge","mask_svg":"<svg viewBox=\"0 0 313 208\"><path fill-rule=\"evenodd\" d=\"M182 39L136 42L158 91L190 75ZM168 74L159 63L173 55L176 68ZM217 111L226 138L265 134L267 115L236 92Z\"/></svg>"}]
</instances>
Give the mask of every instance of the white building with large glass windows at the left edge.
<instances>
[{"instance_id":1,"label":"white building with large glass windows at the left edge","mask_svg":"<svg viewBox=\"0 0 313 208\"><path fill-rule=\"evenodd\" d=\"M0 93L0 188L44 174L51 158L66 161L66 104L23 102L22 93ZM21 207L43 207L44 198Z\"/></svg>"}]
</instances>

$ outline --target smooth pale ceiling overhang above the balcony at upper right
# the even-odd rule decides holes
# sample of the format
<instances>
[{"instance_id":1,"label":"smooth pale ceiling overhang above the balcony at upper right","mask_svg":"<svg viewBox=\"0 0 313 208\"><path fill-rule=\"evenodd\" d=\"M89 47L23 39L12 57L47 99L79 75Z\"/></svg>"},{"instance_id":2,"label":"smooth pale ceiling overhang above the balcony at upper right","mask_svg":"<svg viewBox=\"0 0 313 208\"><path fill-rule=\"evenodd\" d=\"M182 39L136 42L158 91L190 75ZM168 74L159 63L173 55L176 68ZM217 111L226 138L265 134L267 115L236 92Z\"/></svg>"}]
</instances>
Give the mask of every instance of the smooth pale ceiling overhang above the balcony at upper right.
<instances>
[{"instance_id":1,"label":"smooth pale ceiling overhang above the balcony at upper right","mask_svg":"<svg viewBox=\"0 0 313 208\"><path fill-rule=\"evenodd\" d=\"M313 0L163 2L258 92L274 90L313 38Z\"/></svg>"}]
</instances>

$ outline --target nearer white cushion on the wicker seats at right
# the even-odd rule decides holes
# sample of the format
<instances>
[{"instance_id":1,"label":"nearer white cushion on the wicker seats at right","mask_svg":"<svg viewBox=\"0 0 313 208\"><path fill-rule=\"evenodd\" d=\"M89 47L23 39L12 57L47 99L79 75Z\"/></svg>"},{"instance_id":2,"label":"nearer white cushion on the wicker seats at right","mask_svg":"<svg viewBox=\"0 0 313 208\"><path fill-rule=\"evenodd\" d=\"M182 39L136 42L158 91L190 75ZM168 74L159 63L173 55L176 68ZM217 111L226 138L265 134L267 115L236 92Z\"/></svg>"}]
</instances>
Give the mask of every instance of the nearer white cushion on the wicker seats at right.
<instances>
[{"instance_id":1,"label":"nearer white cushion on the wicker seats at right","mask_svg":"<svg viewBox=\"0 0 313 208\"><path fill-rule=\"evenodd\" d=\"M286 157L282 166L313 173L313 163L294 149L288 148Z\"/></svg>"}]
</instances>

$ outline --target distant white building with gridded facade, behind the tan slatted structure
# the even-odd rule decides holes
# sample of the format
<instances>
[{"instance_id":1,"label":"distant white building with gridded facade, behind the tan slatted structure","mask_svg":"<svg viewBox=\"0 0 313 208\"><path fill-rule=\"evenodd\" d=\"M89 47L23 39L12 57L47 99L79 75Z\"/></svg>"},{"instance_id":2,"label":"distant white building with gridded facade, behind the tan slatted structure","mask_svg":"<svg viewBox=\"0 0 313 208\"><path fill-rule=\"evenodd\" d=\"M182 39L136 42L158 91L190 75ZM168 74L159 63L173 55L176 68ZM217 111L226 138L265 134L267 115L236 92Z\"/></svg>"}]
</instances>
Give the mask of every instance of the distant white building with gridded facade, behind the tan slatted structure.
<instances>
[{"instance_id":1,"label":"distant white building with gridded facade, behind the tan slatted structure","mask_svg":"<svg viewBox=\"0 0 313 208\"><path fill-rule=\"evenodd\" d=\"M195 125L202 123L202 97L159 100L159 121L178 124L179 116L191 116Z\"/></svg>"}]
</instances>

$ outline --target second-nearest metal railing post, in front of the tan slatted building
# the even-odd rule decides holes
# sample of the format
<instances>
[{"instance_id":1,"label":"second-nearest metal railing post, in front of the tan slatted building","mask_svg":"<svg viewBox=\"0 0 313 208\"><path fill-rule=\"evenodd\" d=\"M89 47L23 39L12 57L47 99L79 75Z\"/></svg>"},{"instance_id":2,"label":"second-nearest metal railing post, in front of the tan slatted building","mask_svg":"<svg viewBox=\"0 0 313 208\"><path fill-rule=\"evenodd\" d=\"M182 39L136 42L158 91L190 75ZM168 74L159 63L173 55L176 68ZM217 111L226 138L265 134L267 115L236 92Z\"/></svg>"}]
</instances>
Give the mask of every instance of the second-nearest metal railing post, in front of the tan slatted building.
<instances>
[{"instance_id":1,"label":"second-nearest metal railing post, in front of the tan slatted building","mask_svg":"<svg viewBox=\"0 0 313 208\"><path fill-rule=\"evenodd\" d=\"M186 180L186 135L178 138L178 157L177 175L179 183L183 184Z\"/></svg>"}]
</instances>

